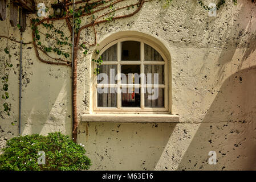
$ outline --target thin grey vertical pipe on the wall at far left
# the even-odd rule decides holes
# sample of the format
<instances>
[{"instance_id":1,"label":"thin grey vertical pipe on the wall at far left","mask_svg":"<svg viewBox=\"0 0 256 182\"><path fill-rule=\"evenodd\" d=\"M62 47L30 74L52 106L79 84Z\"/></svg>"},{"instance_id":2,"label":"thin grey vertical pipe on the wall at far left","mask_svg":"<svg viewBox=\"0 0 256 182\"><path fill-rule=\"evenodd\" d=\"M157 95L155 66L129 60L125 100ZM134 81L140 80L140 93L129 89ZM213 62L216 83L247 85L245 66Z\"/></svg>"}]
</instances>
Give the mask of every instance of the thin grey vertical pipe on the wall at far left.
<instances>
[{"instance_id":1,"label":"thin grey vertical pipe on the wall at far left","mask_svg":"<svg viewBox=\"0 0 256 182\"><path fill-rule=\"evenodd\" d=\"M21 89L22 89L22 31L21 31L21 46L19 54L19 135L21 135Z\"/></svg>"}]
</instances>

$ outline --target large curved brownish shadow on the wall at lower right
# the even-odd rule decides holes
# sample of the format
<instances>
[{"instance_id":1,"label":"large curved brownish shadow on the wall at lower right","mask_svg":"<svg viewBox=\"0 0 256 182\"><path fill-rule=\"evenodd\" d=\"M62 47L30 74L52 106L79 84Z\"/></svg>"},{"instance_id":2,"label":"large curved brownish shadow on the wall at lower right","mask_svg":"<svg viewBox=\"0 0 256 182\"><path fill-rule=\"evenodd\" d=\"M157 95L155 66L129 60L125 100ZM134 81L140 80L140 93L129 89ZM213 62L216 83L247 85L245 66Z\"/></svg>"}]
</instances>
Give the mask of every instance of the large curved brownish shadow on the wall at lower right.
<instances>
[{"instance_id":1,"label":"large curved brownish shadow on the wall at lower right","mask_svg":"<svg viewBox=\"0 0 256 182\"><path fill-rule=\"evenodd\" d=\"M227 78L178 169L256 170L255 90L255 66ZM208 163L209 151L216 151L216 165Z\"/></svg>"}]
</instances>

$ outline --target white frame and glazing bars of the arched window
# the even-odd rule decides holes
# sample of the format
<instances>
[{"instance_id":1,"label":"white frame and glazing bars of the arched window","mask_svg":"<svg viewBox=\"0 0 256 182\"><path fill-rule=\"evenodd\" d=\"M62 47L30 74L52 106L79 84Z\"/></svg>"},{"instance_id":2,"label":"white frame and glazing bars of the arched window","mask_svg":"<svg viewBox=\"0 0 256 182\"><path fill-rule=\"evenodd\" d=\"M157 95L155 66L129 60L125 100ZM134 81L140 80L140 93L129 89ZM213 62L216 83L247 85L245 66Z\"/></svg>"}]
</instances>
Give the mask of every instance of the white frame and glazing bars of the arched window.
<instances>
[{"instance_id":1,"label":"white frame and glazing bars of the arched window","mask_svg":"<svg viewBox=\"0 0 256 182\"><path fill-rule=\"evenodd\" d=\"M140 42L140 59L138 61L121 61L121 42L124 41L137 41ZM161 49L153 42L141 38L136 37L127 37L127 38L120 38L117 40L112 41L111 43L108 43L103 48L100 49L100 55L106 51L109 47L117 44L117 61L104 61L103 65L117 65L117 73L120 73L121 71L121 65L140 65L140 73L144 73L144 65L164 65L164 84L159 85L160 88L164 88L164 107L145 107L145 101L144 101L144 94L143 92L140 93L140 101L141 105L140 107L121 107L121 93L116 93L117 95L117 107L97 107L97 76L92 73L92 113L132 113L132 114L170 114L170 83L169 83L169 65L168 65L168 59L165 56L165 54L161 51ZM164 61L144 61L144 44L148 44L152 48L154 48L160 55L162 56L162 59ZM96 63L92 63L92 72L94 72L94 69L97 68ZM109 87L115 86L120 84L120 78L117 81L117 84L108 84ZM122 84L120 84L122 85ZM128 84L125 84L128 85ZM103 86L102 84L100 86ZM129 86L129 85L128 85ZM130 85L131 86L131 85ZM133 85L134 86L134 85ZM140 84L140 88L141 88ZM119 87L120 89L120 87Z\"/></svg>"}]
</instances>

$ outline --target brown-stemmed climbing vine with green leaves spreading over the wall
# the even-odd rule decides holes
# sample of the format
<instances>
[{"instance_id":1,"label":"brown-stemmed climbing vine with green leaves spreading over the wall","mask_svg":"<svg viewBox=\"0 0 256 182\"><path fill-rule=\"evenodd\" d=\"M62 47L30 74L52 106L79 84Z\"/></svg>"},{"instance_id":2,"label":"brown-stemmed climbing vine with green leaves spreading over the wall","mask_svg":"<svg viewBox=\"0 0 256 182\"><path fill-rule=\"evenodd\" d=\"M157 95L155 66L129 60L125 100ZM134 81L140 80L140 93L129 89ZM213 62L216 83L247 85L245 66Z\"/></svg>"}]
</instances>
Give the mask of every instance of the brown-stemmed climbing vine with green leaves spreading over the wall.
<instances>
[{"instance_id":1,"label":"brown-stemmed climbing vine with green leaves spreading over the wall","mask_svg":"<svg viewBox=\"0 0 256 182\"><path fill-rule=\"evenodd\" d=\"M82 56L86 56L91 50L90 47L97 46L97 31L96 26L102 23L111 23L117 19L128 18L138 13L143 7L144 3L153 0L136 0L135 3L127 3L125 0L82 0L75 2L75 9L72 9L72 0L64 0L64 15L61 18L56 17L54 14L48 15L47 18L32 18L32 44L35 49L36 57L43 63L72 66L73 69L73 95L72 95L72 111L73 111L73 131L72 137L76 142L77 128L78 128L78 113L76 109L76 84L77 84L77 64L80 49ZM210 7L206 6L203 1L197 1L205 10L210 10ZM168 7L172 0L165 0L164 7ZM224 5L225 1L220 0L217 3L217 9L220 9ZM233 0L236 5L237 0ZM48 11L50 9L47 8ZM126 11L125 11L126 10ZM121 13L120 13L121 12ZM74 16L74 27L72 27L72 19ZM61 25L56 27L55 22L58 21ZM58 25L59 25L58 24ZM67 28L67 31L65 30ZM74 28L74 45L72 44L72 29ZM90 31L89 39L84 40L82 37L82 31ZM87 34L86 34L87 35ZM0 36L4 38L5 36ZM8 38L8 37L5 37ZM8 38L10 39L10 38ZM15 41L17 42L17 41ZM72 49L73 63L71 60ZM95 53L96 57L99 57L100 51L97 49L91 50ZM3 94L2 99L5 100L3 104L4 111L10 114L10 105L7 103L9 99L8 91L8 78L10 69L13 65L10 63L11 55L9 48L5 49L6 55L9 59L5 62L5 76L2 77ZM44 57L42 57L44 55ZM102 57L92 59L97 65L103 63ZM99 67L95 68L94 73L99 73Z\"/></svg>"}]
</instances>

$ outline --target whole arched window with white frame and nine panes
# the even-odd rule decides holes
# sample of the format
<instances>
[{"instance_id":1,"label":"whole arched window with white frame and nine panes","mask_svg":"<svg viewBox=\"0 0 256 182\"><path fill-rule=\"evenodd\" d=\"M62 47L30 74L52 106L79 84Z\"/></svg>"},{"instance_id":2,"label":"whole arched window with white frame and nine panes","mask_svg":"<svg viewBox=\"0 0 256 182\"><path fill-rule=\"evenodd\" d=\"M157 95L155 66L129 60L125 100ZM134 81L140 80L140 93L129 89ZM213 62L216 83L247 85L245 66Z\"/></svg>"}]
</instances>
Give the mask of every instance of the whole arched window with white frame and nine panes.
<instances>
[{"instance_id":1,"label":"whole arched window with white frame and nine panes","mask_svg":"<svg viewBox=\"0 0 256 182\"><path fill-rule=\"evenodd\" d=\"M122 38L100 50L94 111L168 111L168 60L153 42ZM96 77L96 76L95 76Z\"/></svg>"}]
</instances>

